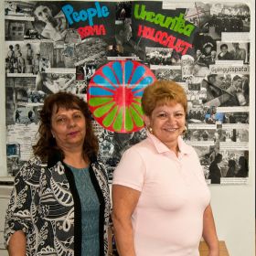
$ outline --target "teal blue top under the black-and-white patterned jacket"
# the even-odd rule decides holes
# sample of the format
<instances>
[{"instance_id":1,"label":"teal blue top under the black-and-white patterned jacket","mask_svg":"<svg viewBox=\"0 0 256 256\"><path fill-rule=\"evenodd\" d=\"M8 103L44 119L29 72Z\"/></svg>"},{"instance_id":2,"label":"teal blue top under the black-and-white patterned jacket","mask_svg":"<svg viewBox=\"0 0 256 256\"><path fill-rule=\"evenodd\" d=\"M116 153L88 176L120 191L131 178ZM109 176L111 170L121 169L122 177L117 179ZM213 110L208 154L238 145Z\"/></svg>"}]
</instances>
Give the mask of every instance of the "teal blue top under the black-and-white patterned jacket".
<instances>
[{"instance_id":1,"label":"teal blue top under the black-and-white patterned jacket","mask_svg":"<svg viewBox=\"0 0 256 256\"><path fill-rule=\"evenodd\" d=\"M81 204L81 255L100 255L100 202L91 183L89 168L69 165L80 196Z\"/></svg>"}]
</instances>

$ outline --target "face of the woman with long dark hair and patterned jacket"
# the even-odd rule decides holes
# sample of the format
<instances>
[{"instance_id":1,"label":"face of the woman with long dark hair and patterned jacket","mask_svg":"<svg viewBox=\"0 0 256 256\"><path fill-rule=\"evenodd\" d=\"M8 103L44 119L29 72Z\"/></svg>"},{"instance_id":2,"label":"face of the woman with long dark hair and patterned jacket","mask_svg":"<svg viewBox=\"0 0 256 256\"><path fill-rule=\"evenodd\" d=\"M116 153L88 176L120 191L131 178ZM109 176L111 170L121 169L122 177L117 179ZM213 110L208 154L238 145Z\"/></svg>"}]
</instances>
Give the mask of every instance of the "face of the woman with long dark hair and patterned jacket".
<instances>
[{"instance_id":1,"label":"face of the woman with long dark hair and patterned jacket","mask_svg":"<svg viewBox=\"0 0 256 256\"><path fill-rule=\"evenodd\" d=\"M60 149L82 148L86 135L86 120L77 109L67 110L56 106L51 116L51 133Z\"/></svg>"}]
</instances>

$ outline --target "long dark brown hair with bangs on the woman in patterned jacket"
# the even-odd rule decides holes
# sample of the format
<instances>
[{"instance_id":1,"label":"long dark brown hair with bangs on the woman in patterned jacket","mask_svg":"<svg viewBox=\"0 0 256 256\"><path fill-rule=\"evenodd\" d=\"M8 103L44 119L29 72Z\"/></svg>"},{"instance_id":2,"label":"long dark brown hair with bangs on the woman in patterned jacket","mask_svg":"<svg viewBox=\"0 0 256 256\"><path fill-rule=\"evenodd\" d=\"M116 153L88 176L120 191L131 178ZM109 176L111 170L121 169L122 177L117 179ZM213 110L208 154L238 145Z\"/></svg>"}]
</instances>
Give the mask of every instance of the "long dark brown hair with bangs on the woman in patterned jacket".
<instances>
[{"instance_id":1,"label":"long dark brown hair with bangs on the woman in patterned jacket","mask_svg":"<svg viewBox=\"0 0 256 256\"><path fill-rule=\"evenodd\" d=\"M43 108L40 111L39 139L37 144L33 146L34 155L47 161L49 155L59 150L64 156L64 152L58 147L51 133L51 116L54 107L56 107L56 112L59 111L59 108L65 108L67 110L77 109L83 113L86 120L86 140L83 144L83 154L89 159L93 159L98 154L99 144L96 135L93 133L88 104L78 96L65 91L50 94L44 101Z\"/></svg>"}]
</instances>

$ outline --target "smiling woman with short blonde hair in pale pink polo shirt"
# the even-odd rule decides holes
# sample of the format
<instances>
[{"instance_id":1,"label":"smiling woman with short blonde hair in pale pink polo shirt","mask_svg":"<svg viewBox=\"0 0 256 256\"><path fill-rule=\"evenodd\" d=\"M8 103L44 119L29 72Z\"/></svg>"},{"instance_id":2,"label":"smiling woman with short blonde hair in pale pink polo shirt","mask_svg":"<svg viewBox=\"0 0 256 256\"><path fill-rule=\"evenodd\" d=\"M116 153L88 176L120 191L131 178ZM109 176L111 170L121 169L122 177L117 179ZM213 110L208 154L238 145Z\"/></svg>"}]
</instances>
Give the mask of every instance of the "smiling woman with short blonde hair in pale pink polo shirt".
<instances>
[{"instance_id":1,"label":"smiling woman with short blonde hair in pale pink polo shirt","mask_svg":"<svg viewBox=\"0 0 256 256\"><path fill-rule=\"evenodd\" d=\"M187 96L173 81L155 81L142 98L147 138L113 174L113 225L121 256L210 256L219 242L197 153L185 144Z\"/></svg>"}]
</instances>

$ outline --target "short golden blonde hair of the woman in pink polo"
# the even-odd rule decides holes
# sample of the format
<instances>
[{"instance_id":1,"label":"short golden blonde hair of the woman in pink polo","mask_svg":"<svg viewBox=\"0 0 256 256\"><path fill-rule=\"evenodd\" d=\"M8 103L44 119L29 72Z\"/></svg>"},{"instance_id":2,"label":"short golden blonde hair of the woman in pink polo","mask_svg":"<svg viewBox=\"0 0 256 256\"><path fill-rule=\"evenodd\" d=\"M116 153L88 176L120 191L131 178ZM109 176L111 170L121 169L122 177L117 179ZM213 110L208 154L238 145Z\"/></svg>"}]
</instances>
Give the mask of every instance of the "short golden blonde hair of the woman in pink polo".
<instances>
[{"instance_id":1,"label":"short golden blonde hair of the woman in pink polo","mask_svg":"<svg viewBox=\"0 0 256 256\"><path fill-rule=\"evenodd\" d=\"M187 94L184 89L173 80L156 80L144 89L144 114L150 116L157 105L165 105L170 101L180 103L187 113Z\"/></svg>"}]
</instances>

